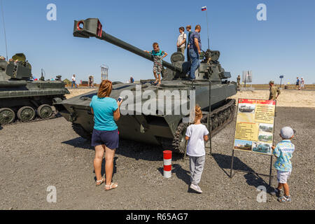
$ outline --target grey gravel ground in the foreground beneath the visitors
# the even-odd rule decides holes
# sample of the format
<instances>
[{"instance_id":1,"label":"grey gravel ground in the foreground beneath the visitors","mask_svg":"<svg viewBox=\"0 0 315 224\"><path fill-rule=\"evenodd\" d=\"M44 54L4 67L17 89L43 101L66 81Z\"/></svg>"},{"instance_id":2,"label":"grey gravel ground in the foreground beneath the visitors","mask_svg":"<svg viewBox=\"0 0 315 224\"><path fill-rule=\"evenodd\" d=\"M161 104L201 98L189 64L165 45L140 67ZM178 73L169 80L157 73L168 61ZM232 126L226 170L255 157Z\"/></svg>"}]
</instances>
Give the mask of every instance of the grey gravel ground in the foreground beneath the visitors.
<instances>
[{"instance_id":1,"label":"grey gravel ground in the foreground beneath the visitors","mask_svg":"<svg viewBox=\"0 0 315 224\"><path fill-rule=\"evenodd\" d=\"M94 185L93 148L64 118L5 126L0 130L0 209L315 209L314 118L315 109L277 109L276 141L284 125L297 131L288 181L293 201L287 204L269 195L266 203L257 202L256 188L267 186L268 177L238 172L230 179L235 123L212 139L214 154L206 158L201 195L188 191L188 160L174 156L172 178L163 178L158 146L120 141L113 176L119 186L105 192ZM235 156L236 169L268 174L269 156L238 151ZM46 201L48 186L57 189L56 203Z\"/></svg>"}]
</instances>

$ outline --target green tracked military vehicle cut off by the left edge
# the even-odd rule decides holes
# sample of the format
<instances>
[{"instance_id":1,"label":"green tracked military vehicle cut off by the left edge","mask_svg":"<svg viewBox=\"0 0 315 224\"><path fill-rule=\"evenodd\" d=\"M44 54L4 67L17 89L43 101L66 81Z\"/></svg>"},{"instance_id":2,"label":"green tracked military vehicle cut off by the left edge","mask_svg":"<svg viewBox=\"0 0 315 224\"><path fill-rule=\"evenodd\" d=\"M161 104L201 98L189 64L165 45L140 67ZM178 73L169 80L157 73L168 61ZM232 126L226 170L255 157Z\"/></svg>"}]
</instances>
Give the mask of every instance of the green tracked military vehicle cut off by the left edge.
<instances>
[{"instance_id":1,"label":"green tracked military vehicle cut off by the left edge","mask_svg":"<svg viewBox=\"0 0 315 224\"><path fill-rule=\"evenodd\" d=\"M52 104L62 102L70 93L61 76L54 81L45 81L43 75L33 80L25 55L12 58L10 62L0 59L0 125L52 118Z\"/></svg>"}]
</instances>

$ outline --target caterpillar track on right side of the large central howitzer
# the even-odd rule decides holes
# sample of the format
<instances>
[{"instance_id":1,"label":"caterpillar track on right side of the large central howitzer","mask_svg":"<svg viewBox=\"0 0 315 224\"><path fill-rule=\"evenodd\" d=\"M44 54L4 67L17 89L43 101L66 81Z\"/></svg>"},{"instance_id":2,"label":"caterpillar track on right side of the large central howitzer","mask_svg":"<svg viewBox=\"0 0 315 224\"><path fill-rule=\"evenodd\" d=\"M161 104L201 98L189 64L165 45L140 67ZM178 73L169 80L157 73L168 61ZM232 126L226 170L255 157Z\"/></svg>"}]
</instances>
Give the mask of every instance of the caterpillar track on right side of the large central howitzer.
<instances>
[{"instance_id":1,"label":"caterpillar track on right side of the large central howitzer","mask_svg":"<svg viewBox=\"0 0 315 224\"><path fill-rule=\"evenodd\" d=\"M211 111L211 137L223 130L234 118L235 99L227 99L227 103L214 111ZM204 114L201 122L207 126L208 116ZM180 123L176 129L174 139L160 139L162 147L172 150L174 153L185 153L185 133L188 123Z\"/></svg>"}]
</instances>

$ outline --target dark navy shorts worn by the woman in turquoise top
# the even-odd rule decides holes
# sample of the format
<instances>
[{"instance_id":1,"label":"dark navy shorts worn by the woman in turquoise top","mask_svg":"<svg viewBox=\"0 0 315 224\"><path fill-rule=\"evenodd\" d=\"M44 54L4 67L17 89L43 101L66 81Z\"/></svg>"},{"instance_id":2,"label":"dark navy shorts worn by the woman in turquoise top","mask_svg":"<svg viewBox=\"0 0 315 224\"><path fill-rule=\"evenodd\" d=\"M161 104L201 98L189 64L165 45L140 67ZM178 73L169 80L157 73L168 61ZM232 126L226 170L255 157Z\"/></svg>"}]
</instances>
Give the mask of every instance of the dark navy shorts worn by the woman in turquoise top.
<instances>
[{"instance_id":1,"label":"dark navy shorts worn by the woman in turquoise top","mask_svg":"<svg viewBox=\"0 0 315 224\"><path fill-rule=\"evenodd\" d=\"M99 131L93 129L92 146L105 145L107 148L118 148L119 134L118 129L113 131Z\"/></svg>"}]
</instances>

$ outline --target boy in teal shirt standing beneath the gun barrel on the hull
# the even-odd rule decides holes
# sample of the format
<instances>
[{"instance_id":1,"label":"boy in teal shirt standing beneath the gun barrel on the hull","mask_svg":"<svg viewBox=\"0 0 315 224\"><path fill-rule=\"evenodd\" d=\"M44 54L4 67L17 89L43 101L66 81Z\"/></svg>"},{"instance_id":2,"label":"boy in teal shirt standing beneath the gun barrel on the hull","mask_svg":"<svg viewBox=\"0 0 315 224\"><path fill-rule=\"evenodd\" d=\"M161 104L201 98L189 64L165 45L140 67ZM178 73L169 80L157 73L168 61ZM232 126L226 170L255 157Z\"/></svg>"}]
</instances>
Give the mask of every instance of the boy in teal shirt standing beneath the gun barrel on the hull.
<instances>
[{"instance_id":1,"label":"boy in teal shirt standing beneath the gun barrel on the hull","mask_svg":"<svg viewBox=\"0 0 315 224\"><path fill-rule=\"evenodd\" d=\"M167 57L167 52L160 50L158 43L153 43L153 50L144 50L144 52L149 53L153 57L153 74L155 77L155 83L153 84L159 86L161 84L161 72L163 69L162 59Z\"/></svg>"}]
</instances>

